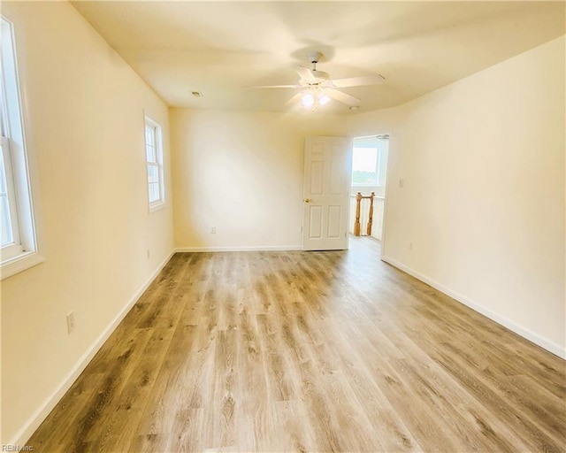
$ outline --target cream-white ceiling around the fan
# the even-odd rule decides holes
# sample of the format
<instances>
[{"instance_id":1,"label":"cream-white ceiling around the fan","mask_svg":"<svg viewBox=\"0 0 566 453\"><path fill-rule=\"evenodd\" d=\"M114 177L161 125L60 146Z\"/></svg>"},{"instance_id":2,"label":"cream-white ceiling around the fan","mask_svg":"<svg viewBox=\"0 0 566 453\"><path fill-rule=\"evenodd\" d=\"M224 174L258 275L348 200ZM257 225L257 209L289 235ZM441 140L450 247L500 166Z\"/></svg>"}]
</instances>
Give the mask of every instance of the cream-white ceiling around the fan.
<instances>
[{"instance_id":1,"label":"cream-white ceiling around the fan","mask_svg":"<svg viewBox=\"0 0 566 453\"><path fill-rule=\"evenodd\" d=\"M295 65L386 83L344 88L360 111L402 104L565 33L563 2L73 2L172 106L286 111ZM525 88L528 89L528 88ZM202 91L195 98L191 91ZM347 114L332 102L325 111Z\"/></svg>"}]
</instances>

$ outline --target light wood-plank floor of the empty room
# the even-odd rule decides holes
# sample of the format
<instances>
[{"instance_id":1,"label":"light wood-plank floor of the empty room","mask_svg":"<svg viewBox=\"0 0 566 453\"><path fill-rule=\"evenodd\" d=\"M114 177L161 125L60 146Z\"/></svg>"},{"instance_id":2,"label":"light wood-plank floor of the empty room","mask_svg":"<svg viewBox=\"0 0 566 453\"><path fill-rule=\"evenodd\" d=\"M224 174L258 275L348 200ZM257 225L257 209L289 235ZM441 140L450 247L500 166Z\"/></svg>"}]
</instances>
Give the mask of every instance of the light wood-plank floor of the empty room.
<instances>
[{"instance_id":1,"label":"light wood-plank floor of the empty room","mask_svg":"<svg viewBox=\"0 0 566 453\"><path fill-rule=\"evenodd\" d=\"M175 255L27 443L566 450L566 362L350 246Z\"/></svg>"}]
</instances>

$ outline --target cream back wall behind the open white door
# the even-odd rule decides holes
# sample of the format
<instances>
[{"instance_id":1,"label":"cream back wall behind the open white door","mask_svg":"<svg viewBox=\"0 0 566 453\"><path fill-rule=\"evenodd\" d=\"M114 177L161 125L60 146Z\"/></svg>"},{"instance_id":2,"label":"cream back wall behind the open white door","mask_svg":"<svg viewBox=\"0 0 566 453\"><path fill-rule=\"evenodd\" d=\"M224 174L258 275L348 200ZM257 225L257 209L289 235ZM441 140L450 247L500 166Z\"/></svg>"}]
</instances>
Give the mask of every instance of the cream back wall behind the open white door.
<instances>
[{"instance_id":1,"label":"cream back wall behind the open white door","mask_svg":"<svg viewBox=\"0 0 566 453\"><path fill-rule=\"evenodd\" d=\"M170 121L177 247L301 247L304 139L345 135L343 118L171 109Z\"/></svg>"}]
</instances>

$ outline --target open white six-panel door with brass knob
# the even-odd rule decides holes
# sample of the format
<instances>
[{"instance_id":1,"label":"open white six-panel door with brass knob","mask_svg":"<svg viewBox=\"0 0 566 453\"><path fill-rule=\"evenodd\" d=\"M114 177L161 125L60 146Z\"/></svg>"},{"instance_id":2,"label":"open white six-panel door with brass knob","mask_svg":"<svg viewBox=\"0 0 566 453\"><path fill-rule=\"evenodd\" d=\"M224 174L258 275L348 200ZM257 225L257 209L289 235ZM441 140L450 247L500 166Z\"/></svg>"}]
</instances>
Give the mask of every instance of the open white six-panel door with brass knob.
<instances>
[{"instance_id":1,"label":"open white six-panel door with brass knob","mask_svg":"<svg viewBox=\"0 0 566 453\"><path fill-rule=\"evenodd\" d=\"M303 250L348 249L350 163L346 137L307 137Z\"/></svg>"}]
</instances>

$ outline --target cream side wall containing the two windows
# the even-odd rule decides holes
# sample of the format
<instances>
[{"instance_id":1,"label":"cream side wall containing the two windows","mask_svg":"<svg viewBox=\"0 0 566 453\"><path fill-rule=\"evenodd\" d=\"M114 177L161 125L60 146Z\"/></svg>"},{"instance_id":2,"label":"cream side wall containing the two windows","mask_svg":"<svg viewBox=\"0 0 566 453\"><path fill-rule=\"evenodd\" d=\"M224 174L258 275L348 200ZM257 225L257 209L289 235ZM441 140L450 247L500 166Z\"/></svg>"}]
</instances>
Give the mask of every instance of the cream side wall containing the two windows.
<instances>
[{"instance_id":1,"label":"cream side wall containing the two windows","mask_svg":"<svg viewBox=\"0 0 566 453\"><path fill-rule=\"evenodd\" d=\"M171 197L164 210L148 214L144 162L145 110L164 127L171 196L165 104L71 4L3 2L2 13L16 29L40 252L47 258L2 281L2 443L8 443L19 434L27 439L34 413L65 387L173 242ZM76 316L73 334L69 311Z\"/></svg>"}]
</instances>

